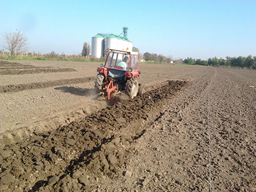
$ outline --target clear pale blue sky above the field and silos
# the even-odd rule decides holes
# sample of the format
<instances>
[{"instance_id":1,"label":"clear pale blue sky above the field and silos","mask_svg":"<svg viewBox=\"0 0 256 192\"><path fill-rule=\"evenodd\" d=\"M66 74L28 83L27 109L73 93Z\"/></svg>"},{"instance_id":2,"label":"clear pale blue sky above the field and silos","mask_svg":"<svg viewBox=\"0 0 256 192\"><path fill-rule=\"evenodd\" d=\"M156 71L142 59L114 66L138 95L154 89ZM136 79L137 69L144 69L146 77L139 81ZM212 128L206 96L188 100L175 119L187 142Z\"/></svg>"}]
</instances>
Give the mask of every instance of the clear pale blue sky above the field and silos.
<instances>
[{"instance_id":1,"label":"clear pale blue sky above the field and silos","mask_svg":"<svg viewBox=\"0 0 256 192\"><path fill-rule=\"evenodd\" d=\"M207 60L256 55L256 1L0 0L4 32L20 30L29 51L80 54L97 33L128 38L141 53Z\"/></svg>"}]
</instances>

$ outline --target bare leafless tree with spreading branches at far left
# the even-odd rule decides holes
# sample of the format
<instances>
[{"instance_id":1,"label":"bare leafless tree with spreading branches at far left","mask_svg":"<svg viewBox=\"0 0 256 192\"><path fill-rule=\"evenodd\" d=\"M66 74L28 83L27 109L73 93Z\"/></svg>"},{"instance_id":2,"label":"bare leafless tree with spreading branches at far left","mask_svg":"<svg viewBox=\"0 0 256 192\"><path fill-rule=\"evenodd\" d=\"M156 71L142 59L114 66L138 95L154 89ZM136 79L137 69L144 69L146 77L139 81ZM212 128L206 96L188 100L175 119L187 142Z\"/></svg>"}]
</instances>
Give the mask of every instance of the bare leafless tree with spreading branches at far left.
<instances>
[{"instance_id":1,"label":"bare leafless tree with spreading branches at far left","mask_svg":"<svg viewBox=\"0 0 256 192\"><path fill-rule=\"evenodd\" d=\"M17 52L28 51L28 38L20 33L20 31L4 33L3 36L7 44L4 48L10 51L12 57Z\"/></svg>"}]
</instances>

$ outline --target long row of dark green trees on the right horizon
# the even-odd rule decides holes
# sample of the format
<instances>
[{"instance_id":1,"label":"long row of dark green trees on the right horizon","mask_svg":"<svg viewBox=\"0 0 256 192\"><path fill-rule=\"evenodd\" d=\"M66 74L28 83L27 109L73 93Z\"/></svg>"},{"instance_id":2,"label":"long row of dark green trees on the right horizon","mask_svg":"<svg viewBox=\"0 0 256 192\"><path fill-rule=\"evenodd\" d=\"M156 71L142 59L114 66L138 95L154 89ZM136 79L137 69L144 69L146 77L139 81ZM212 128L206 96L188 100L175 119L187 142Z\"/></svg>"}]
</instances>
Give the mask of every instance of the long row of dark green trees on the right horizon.
<instances>
[{"instance_id":1,"label":"long row of dark green trees on the right horizon","mask_svg":"<svg viewBox=\"0 0 256 192\"><path fill-rule=\"evenodd\" d=\"M188 65L205 65L213 67L236 67L236 68L252 68L256 69L256 56L239 56L239 57L229 57L223 58L209 58L206 60L195 60L193 58L186 58L183 61L184 64Z\"/></svg>"}]
</instances>

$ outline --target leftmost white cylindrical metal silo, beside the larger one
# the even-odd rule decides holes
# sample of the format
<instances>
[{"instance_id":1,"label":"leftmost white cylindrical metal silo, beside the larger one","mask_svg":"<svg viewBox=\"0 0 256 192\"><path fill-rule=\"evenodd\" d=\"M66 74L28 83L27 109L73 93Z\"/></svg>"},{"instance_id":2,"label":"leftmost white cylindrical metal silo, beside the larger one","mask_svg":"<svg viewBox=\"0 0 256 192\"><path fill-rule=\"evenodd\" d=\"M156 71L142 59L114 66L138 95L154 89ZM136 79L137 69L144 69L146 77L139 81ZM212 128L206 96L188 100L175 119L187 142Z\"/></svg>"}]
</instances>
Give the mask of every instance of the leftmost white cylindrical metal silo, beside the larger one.
<instances>
[{"instance_id":1,"label":"leftmost white cylindrical metal silo, beside the larger one","mask_svg":"<svg viewBox=\"0 0 256 192\"><path fill-rule=\"evenodd\" d=\"M92 37L92 56L100 58L104 51L104 36L98 33Z\"/></svg>"}]
</instances>

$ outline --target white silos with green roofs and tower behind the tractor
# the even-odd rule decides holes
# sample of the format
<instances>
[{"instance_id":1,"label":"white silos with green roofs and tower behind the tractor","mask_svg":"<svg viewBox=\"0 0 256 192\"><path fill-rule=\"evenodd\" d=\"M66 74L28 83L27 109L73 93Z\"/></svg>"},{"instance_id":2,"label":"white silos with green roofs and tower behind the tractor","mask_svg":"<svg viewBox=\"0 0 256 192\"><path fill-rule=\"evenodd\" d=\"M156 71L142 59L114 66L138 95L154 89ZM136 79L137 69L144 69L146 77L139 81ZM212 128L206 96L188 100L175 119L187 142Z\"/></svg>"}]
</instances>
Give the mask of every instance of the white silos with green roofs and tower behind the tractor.
<instances>
[{"instance_id":1,"label":"white silos with green roofs and tower behind the tractor","mask_svg":"<svg viewBox=\"0 0 256 192\"><path fill-rule=\"evenodd\" d=\"M98 33L92 37L92 56L100 58L104 56L105 50L117 49L122 51L132 51L132 42L127 38L127 29L123 28L123 33L102 34ZM121 36L123 34L123 36Z\"/></svg>"}]
</instances>

